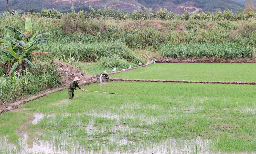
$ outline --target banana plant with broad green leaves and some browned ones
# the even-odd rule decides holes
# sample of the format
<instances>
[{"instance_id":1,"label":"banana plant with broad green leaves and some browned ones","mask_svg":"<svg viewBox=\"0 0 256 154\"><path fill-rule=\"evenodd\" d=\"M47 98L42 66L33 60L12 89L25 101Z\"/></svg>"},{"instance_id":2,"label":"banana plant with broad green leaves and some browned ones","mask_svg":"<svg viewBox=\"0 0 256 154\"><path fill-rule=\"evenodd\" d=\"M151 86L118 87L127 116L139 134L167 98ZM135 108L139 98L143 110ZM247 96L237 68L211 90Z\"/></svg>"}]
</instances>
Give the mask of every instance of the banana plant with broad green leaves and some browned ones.
<instances>
[{"instance_id":1,"label":"banana plant with broad green leaves and some browned ones","mask_svg":"<svg viewBox=\"0 0 256 154\"><path fill-rule=\"evenodd\" d=\"M0 38L0 63L4 63L5 65L11 66L9 74L13 74L17 68L24 69L26 66L31 68L35 68L33 63L31 62L31 51L38 49L36 44L44 43L49 40L49 38L42 38L42 35L50 34L51 32L46 32L39 34L39 31L32 32L32 23L31 18L26 18L25 22L25 33L20 29L5 26L12 31L14 31L14 37L10 37L7 33L5 39ZM41 52L37 52L33 55L45 54ZM45 54L50 55L50 53Z\"/></svg>"}]
</instances>

